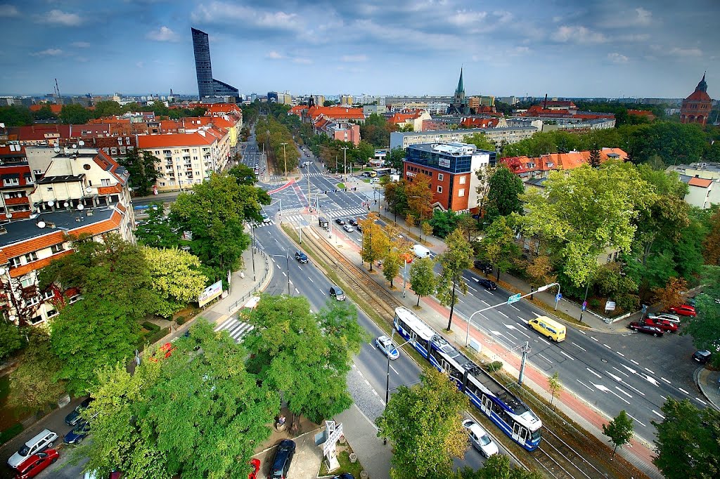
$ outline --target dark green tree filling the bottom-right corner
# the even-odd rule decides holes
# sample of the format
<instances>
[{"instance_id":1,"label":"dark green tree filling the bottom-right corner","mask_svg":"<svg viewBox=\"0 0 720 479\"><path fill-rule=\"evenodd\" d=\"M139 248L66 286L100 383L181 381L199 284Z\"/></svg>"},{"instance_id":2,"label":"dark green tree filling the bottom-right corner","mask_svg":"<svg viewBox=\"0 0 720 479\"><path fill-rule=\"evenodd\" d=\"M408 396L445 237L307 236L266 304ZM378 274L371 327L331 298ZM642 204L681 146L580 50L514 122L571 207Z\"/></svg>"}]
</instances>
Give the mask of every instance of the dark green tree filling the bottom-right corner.
<instances>
[{"instance_id":1,"label":"dark green tree filling the bottom-right corner","mask_svg":"<svg viewBox=\"0 0 720 479\"><path fill-rule=\"evenodd\" d=\"M667 398L656 429L653 464L667 479L711 479L720 475L720 412L697 409L688 399Z\"/></svg>"}]
</instances>

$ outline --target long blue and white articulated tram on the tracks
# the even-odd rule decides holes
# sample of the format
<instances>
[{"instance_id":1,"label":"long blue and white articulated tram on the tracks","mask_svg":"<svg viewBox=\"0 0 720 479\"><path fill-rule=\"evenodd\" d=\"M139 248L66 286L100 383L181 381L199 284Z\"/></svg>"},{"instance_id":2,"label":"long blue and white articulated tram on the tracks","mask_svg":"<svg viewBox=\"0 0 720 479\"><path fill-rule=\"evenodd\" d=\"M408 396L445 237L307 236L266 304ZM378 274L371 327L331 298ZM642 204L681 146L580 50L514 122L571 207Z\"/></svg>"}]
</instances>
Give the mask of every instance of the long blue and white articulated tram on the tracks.
<instances>
[{"instance_id":1,"label":"long blue and white articulated tram on the tracks","mask_svg":"<svg viewBox=\"0 0 720 479\"><path fill-rule=\"evenodd\" d=\"M540 444L542 421L508 388L436 334L413 311L395 309L395 329L437 370L449 374L473 406L526 450Z\"/></svg>"}]
</instances>

